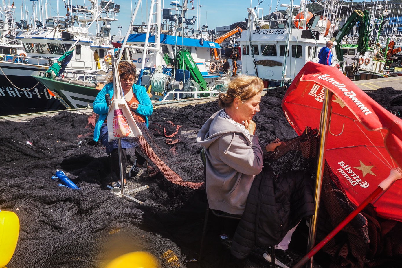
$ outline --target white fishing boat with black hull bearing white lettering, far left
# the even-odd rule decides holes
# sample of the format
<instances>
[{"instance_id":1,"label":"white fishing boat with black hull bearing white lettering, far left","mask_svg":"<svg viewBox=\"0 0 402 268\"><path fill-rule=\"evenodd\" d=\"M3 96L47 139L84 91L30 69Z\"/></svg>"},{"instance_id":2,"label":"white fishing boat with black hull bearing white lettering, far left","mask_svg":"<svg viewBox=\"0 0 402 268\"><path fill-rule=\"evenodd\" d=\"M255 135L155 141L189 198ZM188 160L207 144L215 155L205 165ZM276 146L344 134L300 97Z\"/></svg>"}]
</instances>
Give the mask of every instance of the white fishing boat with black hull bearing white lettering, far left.
<instances>
[{"instance_id":1,"label":"white fishing boat with black hull bearing white lettering, far left","mask_svg":"<svg viewBox=\"0 0 402 268\"><path fill-rule=\"evenodd\" d=\"M34 1L35 2L35 1ZM65 2L66 16L46 17L43 24L35 20L30 25L21 20L21 31L16 37L25 52L12 60L0 61L2 96L0 115L15 115L65 109L63 100L33 78L69 50L72 60L65 66L64 76L79 79L110 68L113 46L110 44L110 25L117 20L120 5L109 1L90 0L86 6ZM92 17L92 19L90 18ZM93 20L95 18L96 21ZM90 23L88 25L88 23ZM96 35L88 33L92 24L98 24Z\"/></svg>"}]
</instances>

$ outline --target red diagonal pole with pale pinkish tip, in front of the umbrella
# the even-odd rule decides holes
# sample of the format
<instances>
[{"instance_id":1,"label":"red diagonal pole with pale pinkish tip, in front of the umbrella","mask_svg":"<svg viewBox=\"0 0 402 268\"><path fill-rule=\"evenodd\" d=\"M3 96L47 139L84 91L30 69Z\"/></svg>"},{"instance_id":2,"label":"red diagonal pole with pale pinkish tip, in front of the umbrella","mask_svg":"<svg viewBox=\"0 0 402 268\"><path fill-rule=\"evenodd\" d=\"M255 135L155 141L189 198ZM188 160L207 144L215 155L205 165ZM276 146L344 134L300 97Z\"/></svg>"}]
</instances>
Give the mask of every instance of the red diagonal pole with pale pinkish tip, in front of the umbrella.
<instances>
[{"instance_id":1,"label":"red diagonal pole with pale pinkish tip, in front of the umbrella","mask_svg":"<svg viewBox=\"0 0 402 268\"><path fill-rule=\"evenodd\" d=\"M357 214L360 213L373 199L377 198L380 194L385 192L396 180L402 178L402 173L399 168L392 169L388 178L383 180L354 211L352 211L338 226L335 227L320 243L318 243L306 256L301 258L299 262L293 268L301 268L310 258L313 258L314 254L318 252L326 243L328 243L340 230L343 229ZM312 263L312 262L311 262Z\"/></svg>"}]
</instances>

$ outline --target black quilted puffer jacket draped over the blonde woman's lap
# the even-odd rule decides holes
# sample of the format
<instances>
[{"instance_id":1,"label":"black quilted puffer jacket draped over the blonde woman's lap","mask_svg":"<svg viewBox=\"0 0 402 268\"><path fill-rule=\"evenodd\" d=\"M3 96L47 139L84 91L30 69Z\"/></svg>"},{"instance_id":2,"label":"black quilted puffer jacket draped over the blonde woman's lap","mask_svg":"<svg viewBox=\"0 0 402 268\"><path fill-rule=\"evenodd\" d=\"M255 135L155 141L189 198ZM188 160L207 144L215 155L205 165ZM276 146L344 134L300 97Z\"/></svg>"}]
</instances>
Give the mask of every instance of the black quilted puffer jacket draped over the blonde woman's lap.
<instances>
[{"instance_id":1,"label":"black quilted puffer jacket draped over the blonde woman's lap","mask_svg":"<svg viewBox=\"0 0 402 268\"><path fill-rule=\"evenodd\" d=\"M276 176L270 166L264 167L248 194L246 209L233 237L232 255L243 259L254 245L277 245L303 217L313 215L310 180L301 171Z\"/></svg>"}]
</instances>

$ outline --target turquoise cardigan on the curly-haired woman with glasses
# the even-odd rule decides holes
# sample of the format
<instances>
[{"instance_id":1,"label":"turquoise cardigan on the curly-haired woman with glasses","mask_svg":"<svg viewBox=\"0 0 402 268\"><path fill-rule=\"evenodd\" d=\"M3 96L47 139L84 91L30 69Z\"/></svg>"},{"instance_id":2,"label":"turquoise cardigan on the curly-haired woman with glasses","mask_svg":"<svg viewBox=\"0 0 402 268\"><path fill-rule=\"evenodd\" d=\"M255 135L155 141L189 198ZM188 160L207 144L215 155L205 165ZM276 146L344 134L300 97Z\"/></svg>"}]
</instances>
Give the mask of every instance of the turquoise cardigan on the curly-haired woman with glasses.
<instances>
[{"instance_id":1,"label":"turquoise cardigan on the curly-haired woman with glasses","mask_svg":"<svg viewBox=\"0 0 402 268\"><path fill-rule=\"evenodd\" d=\"M143 115L145 117L145 122L148 127L148 117L152 115L152 111L154 107L152 106L151 99L148 96L146 89L143 86L139 86L133 84L133 93L137 97L139 102L137 110L135 113L139 115ZM94 129L94 141L98 141L100 134L100 127L107 117L107 112L109 111L109 107L106 105L105 94L109 94L110 98L112 98L114 93L113 83L106 84L102 90L98 93L94 100L94 112L99 115L98 121L96 121L95 129Z\"/></svg>"}]
</instances>

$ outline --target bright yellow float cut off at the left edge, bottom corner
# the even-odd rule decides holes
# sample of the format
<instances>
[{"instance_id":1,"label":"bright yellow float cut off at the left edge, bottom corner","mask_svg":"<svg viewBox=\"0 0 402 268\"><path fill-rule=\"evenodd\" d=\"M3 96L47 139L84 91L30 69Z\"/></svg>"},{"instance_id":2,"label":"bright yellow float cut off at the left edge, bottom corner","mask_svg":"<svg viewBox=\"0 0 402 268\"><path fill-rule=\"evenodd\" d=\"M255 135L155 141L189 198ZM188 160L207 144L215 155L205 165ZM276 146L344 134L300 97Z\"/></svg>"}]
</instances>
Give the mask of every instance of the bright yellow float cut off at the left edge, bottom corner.
<instances>
[{"instance_id":1,"label":"bright yellow float cut off at the left edge, bottom corner","mask_svg":"<svg viewBox=\"0 0 402 268\"><path fill-rule=\"evenodd\" d=\"M19 232L18 216L12 211L0 210L0 267L5 267L11 260Z\"/></svg>"}]
</instances>

